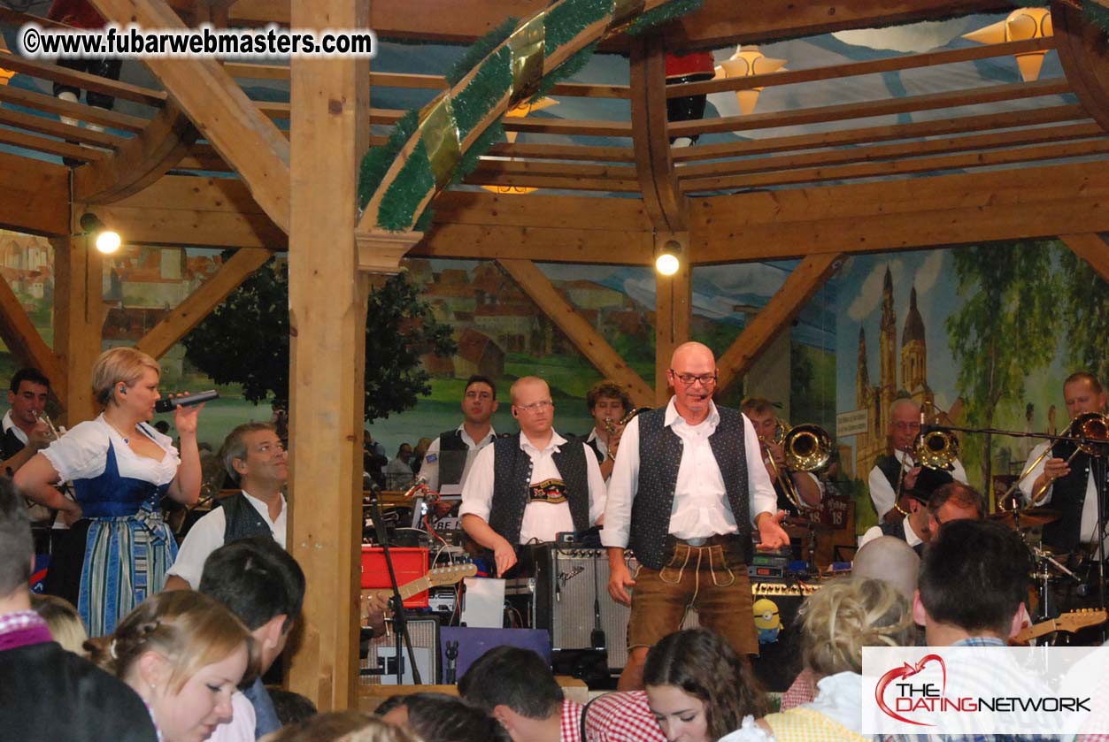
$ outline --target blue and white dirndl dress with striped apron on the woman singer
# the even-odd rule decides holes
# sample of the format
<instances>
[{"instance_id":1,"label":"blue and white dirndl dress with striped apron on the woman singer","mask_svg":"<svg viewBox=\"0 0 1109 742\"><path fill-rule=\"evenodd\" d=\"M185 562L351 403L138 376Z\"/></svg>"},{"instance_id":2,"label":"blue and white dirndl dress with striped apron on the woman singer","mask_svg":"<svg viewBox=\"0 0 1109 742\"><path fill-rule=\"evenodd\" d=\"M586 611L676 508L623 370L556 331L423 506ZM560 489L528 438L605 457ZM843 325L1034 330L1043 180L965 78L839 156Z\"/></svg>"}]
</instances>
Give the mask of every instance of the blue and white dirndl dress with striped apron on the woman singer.
<instances>
[{"instance_id":1,"label":"blue and white dirndl dress with striped apron on the woman singer","mask_svg":"<svg viewBox=\"0 0 1109 742\"><path fill-rule=\"evenodd\" d=\"M80 574L75 602L91 637L111 633L160 591L177 555L161 499L181 458L169 436L145 423L139 430L164 451L160 461L132 451L103 415L75 425L43 451L62 480L73 482L83 511L68 537L71 564L57 566Z\"/></svg>"}]
</instances>

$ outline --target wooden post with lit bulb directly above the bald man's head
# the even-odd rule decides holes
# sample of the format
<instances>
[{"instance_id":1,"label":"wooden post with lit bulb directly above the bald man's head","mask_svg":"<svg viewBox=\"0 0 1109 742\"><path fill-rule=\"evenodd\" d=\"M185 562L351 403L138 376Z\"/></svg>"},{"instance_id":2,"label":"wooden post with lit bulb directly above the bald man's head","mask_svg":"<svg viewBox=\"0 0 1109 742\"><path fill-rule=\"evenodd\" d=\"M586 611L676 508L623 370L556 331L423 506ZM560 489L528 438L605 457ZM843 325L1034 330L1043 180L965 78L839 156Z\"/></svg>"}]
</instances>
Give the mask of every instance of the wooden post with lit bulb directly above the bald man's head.
<instances>
[{"instance_id":1,"label":"wooden post with lit bulb directly above the bald man's head","mask_svg":"<svg viewBox=\"0 0 1109 742\"><path fill-rule=\"evenodd\" d=\"M680 247L679 268L673 276L654 274L654 404L670 401L667 370L674 348L690 339L693 319L693 264L689 253L689 233L659 234L661 247L675 241ZM658 250L657 250L658 251Z\"/></svg>"}]
</instances>

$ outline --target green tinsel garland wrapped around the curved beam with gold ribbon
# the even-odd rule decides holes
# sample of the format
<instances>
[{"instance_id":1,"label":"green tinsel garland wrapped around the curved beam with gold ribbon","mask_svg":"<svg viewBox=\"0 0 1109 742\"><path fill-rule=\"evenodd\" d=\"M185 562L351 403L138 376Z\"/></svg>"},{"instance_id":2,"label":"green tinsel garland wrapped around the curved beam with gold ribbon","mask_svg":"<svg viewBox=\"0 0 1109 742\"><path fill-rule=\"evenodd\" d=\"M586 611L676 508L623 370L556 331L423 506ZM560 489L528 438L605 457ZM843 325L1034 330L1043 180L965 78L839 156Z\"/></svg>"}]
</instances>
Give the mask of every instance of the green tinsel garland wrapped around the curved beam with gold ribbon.
<instances>
[{"instance_id":1,"label":"green tinsel garland wrapped around the curved beam with gold ribbon","mask_svg":"<svg viewBox=\"0 0 1109 742\"><path fill-rule=\"evenodd\" d=\"M689 13L701 7L701 1L671 0L671 2L643 13L631 24L629 33L639 33L651 25ZM567 0L551 8L545 19L545 53L552 54L563 44L574 39L586 27L604 19L609 11L609 3L600 2L599 0ZM488 56L488 54L501 44L517 25L518 22L515 19L508 19L490 31L484 39L475 43L454 65L447 78L450 85L454 86L476 64L481 65L469 84L451 100L455 121L458 125L459 136L462 140L481 122L494 104L511 89L511 52L506 48L501 49L494 56ZM549 72L540 83L538 92L531 99L536 100L542 96L557 82L579 72L589 61L596 49L596 43L590 44L573 54L573 56L559 65L557 70ZM400 152L404 143L416 131L418 122L409 118L409 116L415 115L418 114L409 112L409 114L398 122L397 128L389 136L389 141L380 147L372 148L363 158L358 182L358 197L363 206L369 202L373 193L380 186L381 178ZM462 158L452 176L454 182L460 182L467 174L472 172L481 154L487 152L502 136L503 127L499 123L489 126L482 132L474 144L462 153ZM434 188L435 176L428 162L427 150L424 147L424 143L420 142L404 167L401 167L397 178L389 185L381 197L377 214L378 226L391 231L409 228L409 225L413 224L416 206L423 200L427 192ZM417 230L426 229L430 226L430 221L431 212L430 209L425 209L413 228Z\"/></svg>"}]
</instances>

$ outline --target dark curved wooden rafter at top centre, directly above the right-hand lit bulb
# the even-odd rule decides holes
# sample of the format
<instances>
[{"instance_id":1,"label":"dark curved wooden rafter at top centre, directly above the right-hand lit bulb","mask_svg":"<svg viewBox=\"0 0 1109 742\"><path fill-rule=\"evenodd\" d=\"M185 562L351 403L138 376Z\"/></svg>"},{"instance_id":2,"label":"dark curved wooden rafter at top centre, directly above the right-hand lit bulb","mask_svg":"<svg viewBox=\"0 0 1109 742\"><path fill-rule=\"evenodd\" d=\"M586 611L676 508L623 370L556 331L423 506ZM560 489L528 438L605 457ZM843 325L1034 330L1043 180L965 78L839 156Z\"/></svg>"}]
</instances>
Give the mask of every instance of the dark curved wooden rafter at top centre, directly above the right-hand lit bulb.
<instances>
[{"instance_id":1,"label":"dark curved wooden rafter at top centre, directly above the right-hand lit bulb","mask_svg":"<svg viewBox=\"0 0 1109 742\"><path fill-rule=\"evenodd\" d=\"M659 231L685 230L685 199L678 190L667 138L667 60L663 37L651 33L631 47L631 128L640 193ZM623 168L622 168L623 169Z\"/></svg>"}]
</instances>

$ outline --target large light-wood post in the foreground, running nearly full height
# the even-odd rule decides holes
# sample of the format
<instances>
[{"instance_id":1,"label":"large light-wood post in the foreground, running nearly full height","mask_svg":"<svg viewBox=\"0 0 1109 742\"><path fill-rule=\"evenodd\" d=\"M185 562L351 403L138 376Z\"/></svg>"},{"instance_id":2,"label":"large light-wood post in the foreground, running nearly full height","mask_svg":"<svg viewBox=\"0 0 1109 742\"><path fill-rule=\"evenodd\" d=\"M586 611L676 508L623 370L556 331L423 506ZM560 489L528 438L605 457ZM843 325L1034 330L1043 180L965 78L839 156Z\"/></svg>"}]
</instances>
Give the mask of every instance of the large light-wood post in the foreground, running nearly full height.
<instances>
[{"instance_id":1,"label":"large light-wood post in the foreground, running nearly full height","mask_svg":"<svg viewBox=\"0 0 1109 742\"><path fill-rule=\"evenodd\" d=\"M293 0L299 29L367 28L367 0ZM321 711L356 703L367 281L355 246L369 144L369 62L292 62L289 550L304 642L289 686Z\"/></svg>"}]
</instances>

